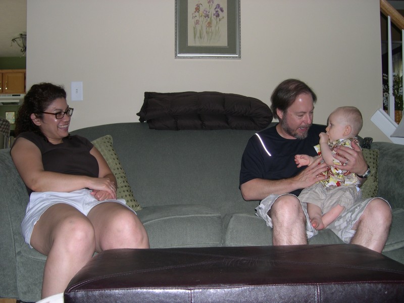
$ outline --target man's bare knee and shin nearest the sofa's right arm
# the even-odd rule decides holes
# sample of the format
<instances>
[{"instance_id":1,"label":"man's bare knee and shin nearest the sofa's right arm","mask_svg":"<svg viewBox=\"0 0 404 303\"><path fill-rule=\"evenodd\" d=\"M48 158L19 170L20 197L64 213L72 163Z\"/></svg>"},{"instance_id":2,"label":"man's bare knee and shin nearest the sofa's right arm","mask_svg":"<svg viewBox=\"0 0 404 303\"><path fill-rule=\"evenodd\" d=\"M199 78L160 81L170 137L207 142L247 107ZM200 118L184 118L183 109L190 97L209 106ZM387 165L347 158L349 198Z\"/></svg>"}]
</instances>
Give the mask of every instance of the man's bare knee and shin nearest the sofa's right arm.
<instances>
[{"instance_id":1,"label":"man's bare knee and shin nearest the sofa's right arm","mask_svg":"<svg viewBox=\"0 0 404 303\"><path fill-rule=\"evenodd\" d=\"M382 252L390 225L390 207L383 199L373 199L355 224L356 234L350 243Z\"/></svg>"}]
</instances>

